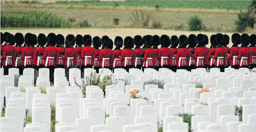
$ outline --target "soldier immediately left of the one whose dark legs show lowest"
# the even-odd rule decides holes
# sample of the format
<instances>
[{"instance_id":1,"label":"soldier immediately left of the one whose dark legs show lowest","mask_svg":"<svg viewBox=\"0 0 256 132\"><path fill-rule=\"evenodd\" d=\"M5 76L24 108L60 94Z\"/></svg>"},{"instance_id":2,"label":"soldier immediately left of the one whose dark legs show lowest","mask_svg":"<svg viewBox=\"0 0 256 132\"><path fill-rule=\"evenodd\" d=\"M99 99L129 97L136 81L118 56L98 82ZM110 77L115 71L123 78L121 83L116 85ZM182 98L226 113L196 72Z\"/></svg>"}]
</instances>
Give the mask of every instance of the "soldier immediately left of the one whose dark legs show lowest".
<instances>
[{"instance_id":1,"label":"soldier immediately left of the one whose dark legs show lowest","mask_svg":"<svg viewBox=\"0 0 256 132\"><path fill-rule=\"evenodd\" d=\"M33 54L33 63L37 71L39 70L39 68L43 68L45 66L43 55L44 55L44 50L45 50L44 45L46 44L46 40L47 39L44 34L39 34L37 37L37 43L39 47L35 49L35 52Z\"/></svg>"}]
</instances>

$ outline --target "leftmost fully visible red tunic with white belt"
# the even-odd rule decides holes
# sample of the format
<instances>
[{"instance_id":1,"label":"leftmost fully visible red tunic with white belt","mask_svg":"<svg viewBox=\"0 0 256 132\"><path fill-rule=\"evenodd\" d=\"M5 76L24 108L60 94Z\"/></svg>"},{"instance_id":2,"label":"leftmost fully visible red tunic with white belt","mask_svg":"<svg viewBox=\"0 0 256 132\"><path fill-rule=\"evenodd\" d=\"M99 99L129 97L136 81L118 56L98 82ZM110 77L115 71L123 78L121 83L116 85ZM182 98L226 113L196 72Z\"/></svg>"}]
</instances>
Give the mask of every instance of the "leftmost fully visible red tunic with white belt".
<instances>
[{"instance_id":1,"label":"leftmost fully visible red tunic with white belt","mask_svg":"<svg viewBox=\"0 0 256 132\"><path fill-rule=\"evenodd\" d=\"M3 66L12 66L16 57L15 47L12 45L6 45L3 48L3 55L1 56L1 60L3 62Z\"/></svg>"}]
</instances>

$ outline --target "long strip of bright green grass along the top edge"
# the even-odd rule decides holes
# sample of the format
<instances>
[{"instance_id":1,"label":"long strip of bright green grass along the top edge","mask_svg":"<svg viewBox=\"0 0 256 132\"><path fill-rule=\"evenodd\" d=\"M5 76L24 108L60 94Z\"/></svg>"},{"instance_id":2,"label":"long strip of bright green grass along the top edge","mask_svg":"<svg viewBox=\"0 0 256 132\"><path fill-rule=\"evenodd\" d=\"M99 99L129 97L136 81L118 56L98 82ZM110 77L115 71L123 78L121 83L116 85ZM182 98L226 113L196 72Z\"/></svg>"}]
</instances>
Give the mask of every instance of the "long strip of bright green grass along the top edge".
<instances>
[{"instance_id":1,"label":"long strip of bright green grass along the top edge","mask_svg":"<svg viewBox=\"0 0 256 132\"><path fill-rule=\"evenodd\" d=\"M221 9L221 10L246 10L247 7L251 4L251 1L239 0L152 0L152 1L57 1L51 3L52 5L56 4L65 4L65 5L93 5L93 6L137 6L137 7L149 7L155 8L156 5L159 5L159 8L184 8L184 9ZM47 3L49 5L49 3Z\"/></svg>"}]
</instances>

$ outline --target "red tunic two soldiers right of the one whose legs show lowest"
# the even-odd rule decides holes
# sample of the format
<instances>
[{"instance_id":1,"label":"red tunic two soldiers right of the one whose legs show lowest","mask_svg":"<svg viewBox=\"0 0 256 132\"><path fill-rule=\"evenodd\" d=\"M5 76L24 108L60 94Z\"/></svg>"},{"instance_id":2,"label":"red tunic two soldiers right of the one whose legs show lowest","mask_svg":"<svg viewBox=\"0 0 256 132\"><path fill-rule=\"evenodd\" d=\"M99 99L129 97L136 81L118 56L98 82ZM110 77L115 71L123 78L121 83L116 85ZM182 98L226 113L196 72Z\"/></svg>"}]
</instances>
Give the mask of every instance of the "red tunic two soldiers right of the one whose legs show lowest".
<instances>
[{"instance_id":1,"label":"red tunic two soldiers right of the one whose legs show lowest","mask_svg":"<svg viewBox=\"0 0 256 132\"><path fill-rule=\"evenodd\" d=\"M65 50L65 54L63 56L63 59L65 60L65 66L69 67L71 65L75 64L75 58L76 56L76 48L69 47Z\"/></svg>"}]
</instances>

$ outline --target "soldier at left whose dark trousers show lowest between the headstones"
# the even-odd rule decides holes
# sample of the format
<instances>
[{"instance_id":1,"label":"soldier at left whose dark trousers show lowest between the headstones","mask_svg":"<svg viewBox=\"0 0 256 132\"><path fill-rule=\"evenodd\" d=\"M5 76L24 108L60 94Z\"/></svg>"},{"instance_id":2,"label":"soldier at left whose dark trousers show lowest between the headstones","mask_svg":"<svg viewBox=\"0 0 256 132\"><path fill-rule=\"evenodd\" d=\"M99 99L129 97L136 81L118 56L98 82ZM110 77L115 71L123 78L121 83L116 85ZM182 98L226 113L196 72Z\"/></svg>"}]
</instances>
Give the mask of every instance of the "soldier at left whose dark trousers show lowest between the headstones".
<instances>
[{"instance_id":1,"label":"soldier at left whose dark trousers show lowest between the headstones","mask_svg":"<svg viewBox=\"0 0 256 132\"><path fill-rule=\"evenodd\" d=\"M45 60L45 67L49 68L51 83L54 83L54 69L59 59L58 49L55 47L57 41L56 35L49 33L46 39L49 47L45 48L43 59Z\"/></svg>"}]
</instances>

